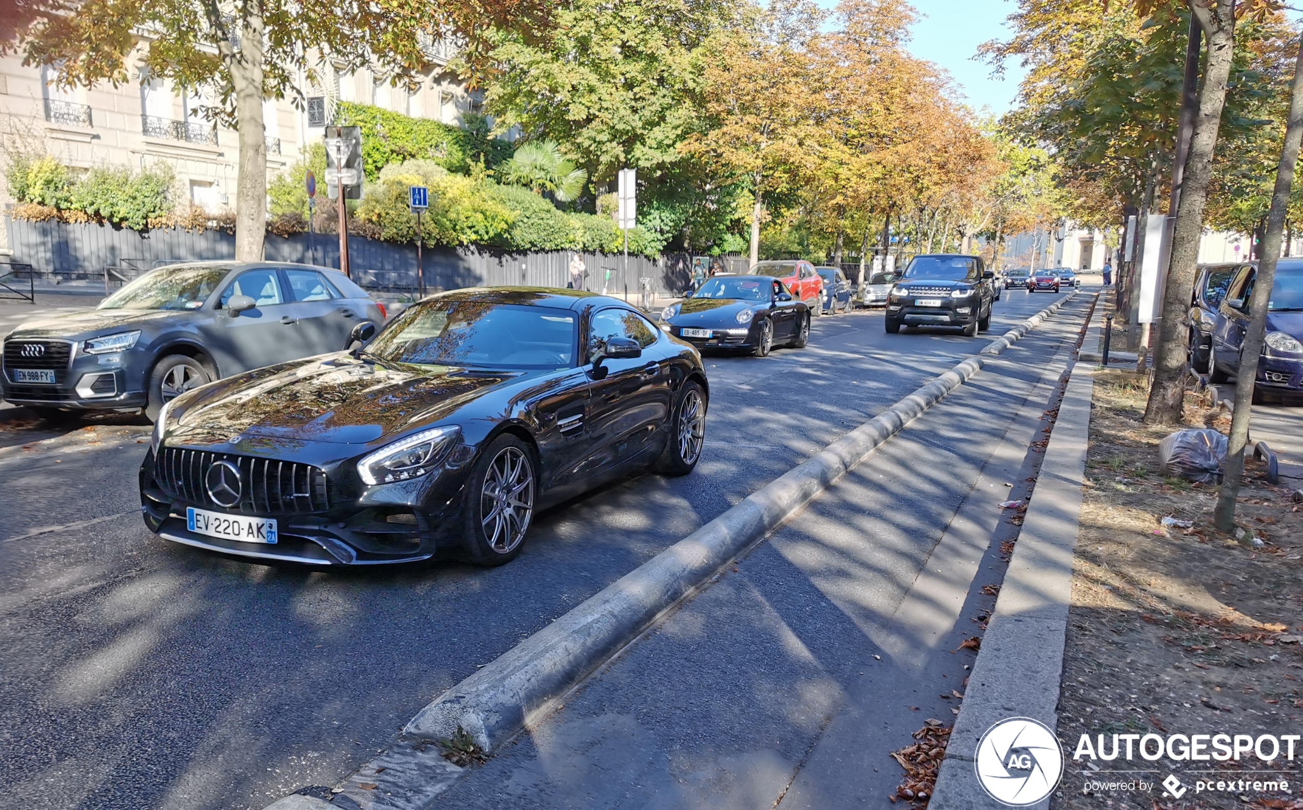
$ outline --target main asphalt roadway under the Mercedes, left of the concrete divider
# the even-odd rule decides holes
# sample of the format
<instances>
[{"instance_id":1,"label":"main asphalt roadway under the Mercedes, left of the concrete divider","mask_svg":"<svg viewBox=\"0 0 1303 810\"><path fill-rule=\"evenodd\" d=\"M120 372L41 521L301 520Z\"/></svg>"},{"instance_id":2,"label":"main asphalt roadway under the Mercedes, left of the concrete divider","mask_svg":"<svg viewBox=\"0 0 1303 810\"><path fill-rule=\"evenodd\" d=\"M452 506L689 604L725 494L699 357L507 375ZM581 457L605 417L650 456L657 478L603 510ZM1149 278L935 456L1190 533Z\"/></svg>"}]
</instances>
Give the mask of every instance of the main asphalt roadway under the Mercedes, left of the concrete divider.
<instances>
[{"instance_id":1,"label":"main asphalt roadway under the Mercedes, left of the concrete divider","mask_svg":"<svg viewBox=\"0 0 1303 810\"><path fill-rule=\"evenodd\" d=\"M1006 293L992 335L1053 301ZM817 320L804 350L709 358L694 474L538 516L524 553L493 570L313 572L173 546L138 516L147 426L0 412L0 807L326 794L477 665L988 340L887 336L881 313L855 313Z\"/></svg>"}]
</instances>

